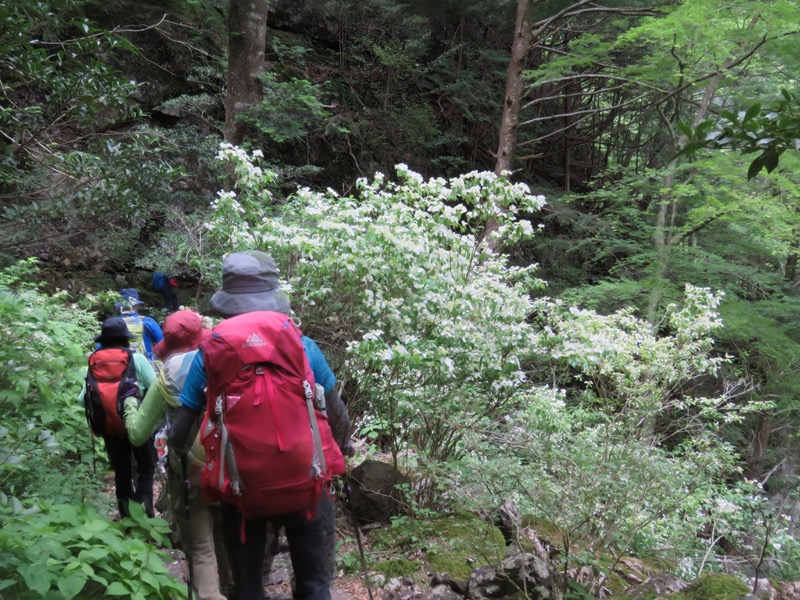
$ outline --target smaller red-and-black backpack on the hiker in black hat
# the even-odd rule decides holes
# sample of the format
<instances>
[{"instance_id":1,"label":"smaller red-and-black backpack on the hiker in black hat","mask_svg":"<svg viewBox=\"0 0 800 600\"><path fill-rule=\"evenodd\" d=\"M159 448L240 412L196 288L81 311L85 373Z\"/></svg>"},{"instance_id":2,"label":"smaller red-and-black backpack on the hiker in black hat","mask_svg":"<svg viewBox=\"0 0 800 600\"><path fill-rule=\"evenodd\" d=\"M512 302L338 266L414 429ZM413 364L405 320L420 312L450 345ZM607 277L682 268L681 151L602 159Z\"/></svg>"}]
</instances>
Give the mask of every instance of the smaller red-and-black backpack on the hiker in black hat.
<instances>
[{"instance_id":1,"label":"smaller red-and-black backpack on the hiker in black hat","mask_svg":"<svg viewBox=\"0 0 800 600\"><path fill-rule=\"evenodd\" d=\"M95 350L89 356L83 403L86 420L96 435L127 436L117 407L128 397L141 398L133 352L128 348Z\"/></svg>"}]
</instances>

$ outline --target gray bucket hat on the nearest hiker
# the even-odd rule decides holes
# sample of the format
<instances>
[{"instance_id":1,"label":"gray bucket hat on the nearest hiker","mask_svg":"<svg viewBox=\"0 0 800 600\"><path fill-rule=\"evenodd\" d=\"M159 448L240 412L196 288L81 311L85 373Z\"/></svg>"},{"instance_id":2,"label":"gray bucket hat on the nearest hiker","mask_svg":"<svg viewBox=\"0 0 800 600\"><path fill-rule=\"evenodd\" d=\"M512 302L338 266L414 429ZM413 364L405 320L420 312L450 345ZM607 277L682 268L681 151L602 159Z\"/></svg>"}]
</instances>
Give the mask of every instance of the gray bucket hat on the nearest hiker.
<instances>
[{"instance_id":1,"label":"gray bucket hat on the nearest hiker","mask_svg":"<svg viewBox=\"0 0 800 600\"><path fill-rule=\"evenodd\" d=\"M266 252L236 252L222 262L222 288L211 297L211 306L223 317L256 310L288 315L289 297L278 281L278 266Z\"/></svg>"}]
</instances>

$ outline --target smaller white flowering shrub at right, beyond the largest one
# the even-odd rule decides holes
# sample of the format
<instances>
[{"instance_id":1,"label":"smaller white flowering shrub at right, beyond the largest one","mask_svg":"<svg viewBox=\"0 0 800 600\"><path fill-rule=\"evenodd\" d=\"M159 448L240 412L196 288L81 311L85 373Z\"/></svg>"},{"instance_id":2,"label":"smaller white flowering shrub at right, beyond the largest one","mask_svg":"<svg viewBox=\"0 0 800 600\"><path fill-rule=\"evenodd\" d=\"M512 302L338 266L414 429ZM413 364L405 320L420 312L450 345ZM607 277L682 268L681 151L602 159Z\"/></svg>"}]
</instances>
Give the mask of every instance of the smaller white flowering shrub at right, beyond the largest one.
<instances>
[{"instance_id":1,"label":"smaller white flowering shrub at right, beyond the largest one","mask_svg":"<svg viewBox=\"0 0 800 600\"><path fill-rule=\"evenodd\" d=\"M577 384L601 410L613 413L618 425L624 421L655 435L649 431L653 421L669 415L672 434L700 434L767 408L735 403L732 396L743 384L713 397L698 395L692 387L700 379L714 380L728 362L712 354L713 335L722 327L717 313L722 297L687 285L682 304L667 306L661 335L631 309L600 315L542 299L535 304L541 325L534 337L536 353L547 357L549 370L560 372L571 388ZM707 386L721 387L720 382Z\"/></svg>"}]
</instances>

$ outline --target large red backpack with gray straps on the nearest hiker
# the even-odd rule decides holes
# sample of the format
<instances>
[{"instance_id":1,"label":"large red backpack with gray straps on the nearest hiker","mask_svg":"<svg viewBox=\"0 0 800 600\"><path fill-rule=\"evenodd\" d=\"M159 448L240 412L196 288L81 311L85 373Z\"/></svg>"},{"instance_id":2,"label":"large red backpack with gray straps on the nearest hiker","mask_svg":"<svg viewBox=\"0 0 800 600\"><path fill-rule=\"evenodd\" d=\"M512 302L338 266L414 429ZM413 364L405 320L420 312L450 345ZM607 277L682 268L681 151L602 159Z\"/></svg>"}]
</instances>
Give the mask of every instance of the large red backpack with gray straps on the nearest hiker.
<instances>
[{"instance_id":1,"label":"large red backpack with gray straps on the nearest hiker","mask_svg":"<svg viewBox=\"0 0 800 600\"><path fill-rule=\"evenodd\" d=\"M208 375L201 426L210 500L245 517L314 513L344 458L314 406L314 375L302 333L281 313L223 321L202 344Z\"/></svg>"}]
</instances>

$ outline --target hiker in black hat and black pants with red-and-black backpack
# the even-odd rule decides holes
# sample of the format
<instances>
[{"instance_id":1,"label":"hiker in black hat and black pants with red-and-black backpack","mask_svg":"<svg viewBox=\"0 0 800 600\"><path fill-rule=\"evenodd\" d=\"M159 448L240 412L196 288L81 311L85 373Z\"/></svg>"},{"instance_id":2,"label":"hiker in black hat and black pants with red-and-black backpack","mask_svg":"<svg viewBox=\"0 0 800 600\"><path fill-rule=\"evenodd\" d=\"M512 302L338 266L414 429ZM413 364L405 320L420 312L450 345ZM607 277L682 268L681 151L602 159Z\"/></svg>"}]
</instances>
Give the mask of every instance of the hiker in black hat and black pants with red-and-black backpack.
<instances>
[{"instance_id":1,"label":"hiker in black hat and black pants with red-and-black backpack","mask_svg":"<svg viewBox=\"0 0 800 600\"><path fill-rule=\"evenodd\" d=\"M87 381L79 399L84 402L93 434L105 441L108 462L114 471L120 517L130 515L130 500L144 504L145 512L152 517L156 461L153 441L131 444L125 425L117 414L121 396L131 394L141 398L156 378L147 358L130 350L133 337L121 317L111 317L103 322L100 335L94 340L99 348L89 357ZM131 362L133 367L130 367ZM131 456L136 462L135 487Z\"/></svg>"}]
</instances>

